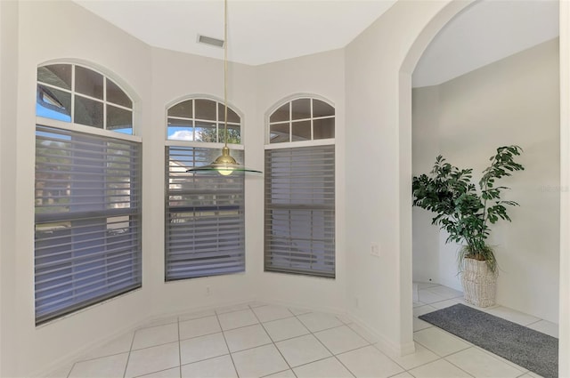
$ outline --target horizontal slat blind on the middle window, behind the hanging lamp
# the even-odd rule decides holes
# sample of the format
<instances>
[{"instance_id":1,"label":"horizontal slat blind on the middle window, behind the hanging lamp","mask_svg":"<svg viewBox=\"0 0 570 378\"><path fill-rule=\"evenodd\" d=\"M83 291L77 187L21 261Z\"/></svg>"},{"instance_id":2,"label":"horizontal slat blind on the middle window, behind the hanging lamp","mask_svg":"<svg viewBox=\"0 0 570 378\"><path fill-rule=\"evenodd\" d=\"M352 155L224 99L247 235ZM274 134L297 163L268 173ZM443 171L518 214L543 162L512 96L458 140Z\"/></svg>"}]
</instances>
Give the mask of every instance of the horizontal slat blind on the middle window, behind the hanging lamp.
<instances>
[{"instance_id":1,"label":"horizontal slat blind on the middle window, behind the hanging lamp","mask_svg":"<svg viewBox=\"0 0 570 378\"><path fill-rule=\"evenodd\" d=\"M186 173L219 149L166 148L166 279L245 271L244 177ZM243 151L232 150L242 161Z\"/></svg>"}]
</instances>

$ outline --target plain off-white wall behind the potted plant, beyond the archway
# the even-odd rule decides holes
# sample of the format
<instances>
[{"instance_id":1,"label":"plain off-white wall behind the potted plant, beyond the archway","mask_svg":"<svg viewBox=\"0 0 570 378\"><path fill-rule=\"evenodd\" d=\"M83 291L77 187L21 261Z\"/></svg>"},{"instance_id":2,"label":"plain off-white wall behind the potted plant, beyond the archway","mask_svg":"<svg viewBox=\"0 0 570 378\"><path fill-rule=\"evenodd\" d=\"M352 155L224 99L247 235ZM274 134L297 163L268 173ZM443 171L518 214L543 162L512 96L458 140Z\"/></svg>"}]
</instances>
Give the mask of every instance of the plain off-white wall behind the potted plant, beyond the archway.
<instances>
[{"instance_id":1,"label":"plain off-white wall behind the potted plant, beyond the archway","mask_svg":"<svg viewBox=\"0 0 570 378\"><path fill-rule=\"evenodd\" d=\"M497 301L558 322L558 258L560 212L558 38L499 60L435 87L414 89L414 154L429 149L452 165L474 168L474 180L503 145L524 149L519 161L525 171L501 180L511 190L503 199L520 206L508 210L512 222L492 226L490 244L500 266ZM426 123L438 122L436 140L419 136ZM415 155L414 155L415 157ZM414 160L414 173L428 173L425 162ZM421 167L421 168L419 168ZM418 215L418 213L414 213ZM419 245L424 236L433 244L433 226L419 214L413 221L414 260L423 261ZM457 285L458 245L444 245L437 258L439 282ZM415 277L426 276L419 264ZM457 287L460 289L460 287Z\"/></svg>"}]
</instances>

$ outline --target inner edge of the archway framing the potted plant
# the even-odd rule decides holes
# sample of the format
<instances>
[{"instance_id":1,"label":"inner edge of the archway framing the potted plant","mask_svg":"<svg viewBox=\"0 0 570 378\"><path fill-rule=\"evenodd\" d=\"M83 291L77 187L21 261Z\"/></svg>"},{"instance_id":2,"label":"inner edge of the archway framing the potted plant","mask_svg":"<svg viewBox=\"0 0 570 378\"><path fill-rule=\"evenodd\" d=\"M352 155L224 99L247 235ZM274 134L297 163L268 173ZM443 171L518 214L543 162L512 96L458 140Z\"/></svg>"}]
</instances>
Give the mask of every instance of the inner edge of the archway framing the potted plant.
<instances>
[{"instance_id":1,"label":"inner edge of the archway framing the potted plant","mask_svg":"<svg viewBox=\"0 0 570 378\"><path fill-rule=\"evenodd\" d=\"M403 65L399 72L399 158L400 158L400 187L410 188L411 186L411 74L416 67L421 54L425 51L428 44L434 36L438 33L444 25L452 20L461 10L467 7L472 2L459 2L453 1L444 5L442 10L437 13L433 20L428 22L426 28L417 36L411 49L407 52ZM568 84L566 83L568 77L568 47L567 39L569 32L569 11L570 6L566 2L560 2L560 83L561 83L561 243L560 243L560 336L559 336L559 356L566 356L569 350L570 343L570 321L568 320L568 310L570 308L570 294L567 288L569 281L569 268L570 262L568 261L567 249L569 241L565 237L568 229L568 198L567 193L563 188L567 184L568 175ZM565 81L566 77L566 81ZM565 100L566 99L566 100ZM410 282L404 282L411 277L411 198L402 196L400 197L400 243L401 243L401 288L407 290L411 288ZM566 283L566 284L565 284ZM402 295L405 298L405 295ZM401 303L402 314L411 312L406 309L405 303ZM405 323L405 322L403 322ZM401 330L404 331L405 325ZM570 363L566 358L559 358L559 374L566 376L570 374Z\"/></svg>"}]
</instances>

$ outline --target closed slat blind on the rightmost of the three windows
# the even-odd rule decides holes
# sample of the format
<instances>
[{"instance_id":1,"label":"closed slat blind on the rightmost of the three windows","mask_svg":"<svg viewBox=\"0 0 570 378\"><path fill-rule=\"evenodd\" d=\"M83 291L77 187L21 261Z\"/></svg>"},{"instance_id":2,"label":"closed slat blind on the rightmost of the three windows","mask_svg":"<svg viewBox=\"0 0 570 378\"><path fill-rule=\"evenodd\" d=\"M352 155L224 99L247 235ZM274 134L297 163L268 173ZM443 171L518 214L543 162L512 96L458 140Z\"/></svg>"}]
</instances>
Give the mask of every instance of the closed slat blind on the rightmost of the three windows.
<instances>
[{"instance_id":1,"label":"closed slat blind on the rightmost of the three windows","mask_svg":"<svg viewBox=\"0 0 570 378\"><path fill-rule=\"evenodd\" d=\"M265 150L265 270L335 277L334 145Z\"/></svg>"}]
</instances>

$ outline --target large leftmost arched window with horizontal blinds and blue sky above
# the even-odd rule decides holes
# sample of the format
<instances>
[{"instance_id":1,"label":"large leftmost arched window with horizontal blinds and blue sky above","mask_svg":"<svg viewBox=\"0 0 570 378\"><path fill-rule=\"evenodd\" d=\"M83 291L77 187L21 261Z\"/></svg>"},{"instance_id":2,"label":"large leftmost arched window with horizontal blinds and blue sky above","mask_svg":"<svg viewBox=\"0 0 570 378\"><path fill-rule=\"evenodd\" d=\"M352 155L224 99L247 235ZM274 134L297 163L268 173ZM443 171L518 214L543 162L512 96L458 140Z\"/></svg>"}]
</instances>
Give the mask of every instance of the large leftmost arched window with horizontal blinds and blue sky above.
<instances>
[{"instance_id":1,"label":"large leftmost arched window with horizontal blinds and blue sky above","mask_svg":"<svg viewBox=\"0 0 570 378\"><path fill-rule=\"evenodd\" d=\"M100 72L37 68L35 293L40 324L141 286L141 138Z\"/></svg>"}]
</instances>

